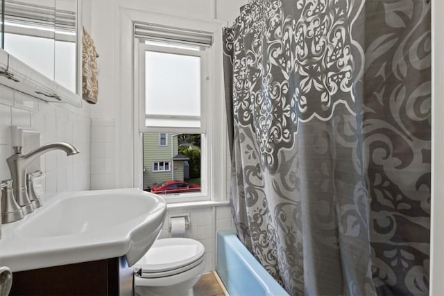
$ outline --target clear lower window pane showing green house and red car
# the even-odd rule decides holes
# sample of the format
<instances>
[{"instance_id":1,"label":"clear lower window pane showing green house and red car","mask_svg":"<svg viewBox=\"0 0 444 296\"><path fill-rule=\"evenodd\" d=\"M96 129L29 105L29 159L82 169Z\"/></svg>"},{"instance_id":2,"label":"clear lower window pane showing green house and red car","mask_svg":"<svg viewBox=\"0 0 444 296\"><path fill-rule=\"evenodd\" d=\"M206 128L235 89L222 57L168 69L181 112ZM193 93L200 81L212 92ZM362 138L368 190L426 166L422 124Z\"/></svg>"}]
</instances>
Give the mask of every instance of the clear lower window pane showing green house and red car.
<instances>
[{"instance_id":1,"label":"clear lower window pane showing green house and red car","mask_svg":"<svg viewBox=\"0 0 444 296\"><path fill-rule=\"evenodd\" d=\"M201 134L167 134L167 146L159 146L158 133L144 133L143 167L153 166L143 172L144 190L176 195L200 192L201 139Z\"/></svg>"}]
</instances>

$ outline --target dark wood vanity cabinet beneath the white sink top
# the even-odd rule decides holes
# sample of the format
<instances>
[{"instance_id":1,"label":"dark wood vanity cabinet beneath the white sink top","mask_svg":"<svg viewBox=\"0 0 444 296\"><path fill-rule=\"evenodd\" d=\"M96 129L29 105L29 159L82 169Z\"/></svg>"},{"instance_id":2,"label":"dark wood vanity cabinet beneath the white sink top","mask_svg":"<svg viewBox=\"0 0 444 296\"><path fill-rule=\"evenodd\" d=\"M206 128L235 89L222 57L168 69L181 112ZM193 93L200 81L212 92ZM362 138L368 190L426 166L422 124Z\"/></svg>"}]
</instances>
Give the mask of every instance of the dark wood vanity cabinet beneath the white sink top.
<instances>
[{"instance_id":1,"label":"dark wood vanity cabinet beneath the white sink top","mask_svg":"<svg viewBox=\"0 0 444 296\"><path fill-rule=\"evenodd\" d=\"M12 272L10 295L134 295L125 256Z\"/></svg>"}]
</instances>

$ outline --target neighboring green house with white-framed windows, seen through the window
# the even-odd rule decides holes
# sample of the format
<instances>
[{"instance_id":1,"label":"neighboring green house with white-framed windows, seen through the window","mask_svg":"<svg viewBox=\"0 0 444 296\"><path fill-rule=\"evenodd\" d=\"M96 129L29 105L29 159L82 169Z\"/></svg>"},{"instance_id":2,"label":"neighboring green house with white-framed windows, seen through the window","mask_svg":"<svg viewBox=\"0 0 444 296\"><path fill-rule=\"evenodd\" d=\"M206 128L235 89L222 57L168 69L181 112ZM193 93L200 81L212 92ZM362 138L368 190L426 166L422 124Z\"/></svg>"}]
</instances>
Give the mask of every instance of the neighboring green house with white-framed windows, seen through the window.
<instances>
[{"instance_id":1,"label":"neighboring green house with white-framed windows, seen through the window","mask_svg":"<svg viewBox=\"0 0 444 296\"><path fill-rule=\"evenodd\" d=\"M178 153L176 134L144 134L144 189L167 180L187 181L189 158Z\"/></svg>"}]
</instances>

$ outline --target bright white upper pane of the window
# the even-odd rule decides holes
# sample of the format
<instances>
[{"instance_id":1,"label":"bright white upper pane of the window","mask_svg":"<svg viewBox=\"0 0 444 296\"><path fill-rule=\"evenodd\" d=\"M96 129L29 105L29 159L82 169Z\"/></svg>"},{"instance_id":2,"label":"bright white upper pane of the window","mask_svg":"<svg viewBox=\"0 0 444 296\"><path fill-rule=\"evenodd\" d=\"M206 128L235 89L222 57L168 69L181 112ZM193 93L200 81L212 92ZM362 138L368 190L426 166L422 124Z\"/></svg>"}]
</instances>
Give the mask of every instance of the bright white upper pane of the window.
<instances>
[{"instance_id":1,"label":"bright white upper pane of the window","mask_svg":"<svg viewBox=\"0 0 444 296\"><path fill-rule=\"evenodd\" d=\"M200 127L200 57L145 51L146 126Z\"/></svg>"}]
</instances>

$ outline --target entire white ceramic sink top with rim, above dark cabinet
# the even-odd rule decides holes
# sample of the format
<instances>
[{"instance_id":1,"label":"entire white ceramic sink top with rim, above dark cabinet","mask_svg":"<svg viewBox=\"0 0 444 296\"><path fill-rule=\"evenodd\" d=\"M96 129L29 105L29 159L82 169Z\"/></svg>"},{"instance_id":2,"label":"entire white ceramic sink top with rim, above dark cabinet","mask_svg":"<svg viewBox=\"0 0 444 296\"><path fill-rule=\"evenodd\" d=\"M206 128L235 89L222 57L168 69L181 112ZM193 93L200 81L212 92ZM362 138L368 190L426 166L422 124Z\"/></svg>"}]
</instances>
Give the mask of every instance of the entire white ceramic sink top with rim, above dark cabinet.
<instances>
[{"instance_id":1,"label":"entire white ceramic sink top with rim, above dark cabinet","mask_svg":"<svg viewBox=\"0 0 444 296\"><path fill-rule=\"evenodd\" d=\"M61 193L3 225L0 265L12 271L126 256L133 265L157 238L164 200L139 189Z\"/></svg>"}]
</instances>

